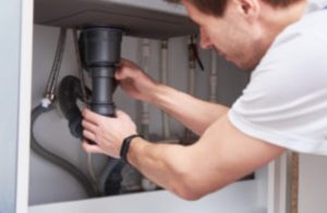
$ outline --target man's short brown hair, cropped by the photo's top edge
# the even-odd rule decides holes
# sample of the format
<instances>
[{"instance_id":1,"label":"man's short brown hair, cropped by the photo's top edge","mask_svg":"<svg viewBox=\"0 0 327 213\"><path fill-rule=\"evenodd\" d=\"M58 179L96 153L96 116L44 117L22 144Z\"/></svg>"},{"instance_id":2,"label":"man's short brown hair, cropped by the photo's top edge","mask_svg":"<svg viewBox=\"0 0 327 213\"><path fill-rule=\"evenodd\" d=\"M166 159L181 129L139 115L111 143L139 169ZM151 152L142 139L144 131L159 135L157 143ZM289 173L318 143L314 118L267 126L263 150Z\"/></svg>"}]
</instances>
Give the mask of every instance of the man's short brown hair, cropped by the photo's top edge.
<instances>
[{"instance_id":1,"label":"man's short brown hair, cropped by the photo's top edge","mask_svg":"<svg viewBox=\"0 0 327 213\"><path fill-rule=\"evenodd\" d=\"M181 3L181 0L166 0L172 3ZM222 16L227 7L228 0L187 0L201 12L214 16ZM288 7L301 0L263 0L272 7Z\"/></svg>"}]
</instances>

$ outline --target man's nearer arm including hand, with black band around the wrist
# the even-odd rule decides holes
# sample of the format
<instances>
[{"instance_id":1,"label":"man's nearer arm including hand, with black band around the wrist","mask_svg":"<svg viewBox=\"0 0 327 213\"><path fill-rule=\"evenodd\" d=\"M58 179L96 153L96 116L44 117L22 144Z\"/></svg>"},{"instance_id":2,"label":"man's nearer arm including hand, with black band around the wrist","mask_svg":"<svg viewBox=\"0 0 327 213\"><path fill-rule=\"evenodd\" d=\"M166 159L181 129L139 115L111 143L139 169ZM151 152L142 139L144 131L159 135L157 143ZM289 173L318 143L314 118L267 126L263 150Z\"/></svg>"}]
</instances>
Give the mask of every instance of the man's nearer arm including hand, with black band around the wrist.
<instances>
[{"instance_id":1,"label":"man's nearer arm including hand, with black band around the wrist","mask_svg":"<svg viewBox=\"0 0 327 213\"><path fill-rule=\"evenodd\" d=\"M84 110L83 115L83 134L96 141L90 146L84 140L87 152L119 158L123 139L136 134L135 124L123 112L119 111L116 118L88 110ZM241 133L225 113L189 147L134 138L128 161L164 188L195 200L266 165L283 151Z\"/></svg>"}]
</instances>

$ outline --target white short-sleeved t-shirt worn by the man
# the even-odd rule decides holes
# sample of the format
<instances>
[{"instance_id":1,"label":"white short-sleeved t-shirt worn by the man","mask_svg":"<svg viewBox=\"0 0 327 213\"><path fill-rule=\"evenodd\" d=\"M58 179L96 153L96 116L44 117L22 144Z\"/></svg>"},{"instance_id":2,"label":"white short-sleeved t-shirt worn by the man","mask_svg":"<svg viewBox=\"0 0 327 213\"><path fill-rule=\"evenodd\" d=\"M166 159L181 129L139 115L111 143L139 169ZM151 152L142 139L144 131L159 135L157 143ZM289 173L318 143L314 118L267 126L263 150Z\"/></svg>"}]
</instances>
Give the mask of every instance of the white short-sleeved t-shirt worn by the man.
<instances>
[{"instance_id":1,"label":"white short-sleeved t-shirt worn by the man","mask_svg":"<svg viewBox=\"0 0 327 213\"><path fill-rule=\"evenodd\" d=\"M229 111L244 134L305 153L327 155L327 3L274 41ZM324 9L325 8L325 9Z\"/></svg>"}]
</instances>

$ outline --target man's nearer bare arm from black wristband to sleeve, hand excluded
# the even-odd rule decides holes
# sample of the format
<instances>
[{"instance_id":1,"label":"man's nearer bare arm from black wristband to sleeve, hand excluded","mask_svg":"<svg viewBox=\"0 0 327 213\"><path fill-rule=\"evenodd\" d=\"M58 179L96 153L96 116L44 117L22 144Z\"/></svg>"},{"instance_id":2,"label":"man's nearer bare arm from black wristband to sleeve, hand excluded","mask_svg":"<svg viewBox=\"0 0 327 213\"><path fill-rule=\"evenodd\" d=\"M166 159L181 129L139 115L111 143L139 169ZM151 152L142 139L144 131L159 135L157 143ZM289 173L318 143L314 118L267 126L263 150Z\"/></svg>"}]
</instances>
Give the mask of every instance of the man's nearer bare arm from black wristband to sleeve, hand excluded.
<instances>
[{"instance_id":1,"label":"man's nearer bare arm from black wristband to sleeve, hand excluded","mask_svg":"<svg viewBox=\"0 0 327 213\"><path fill-rule=\"evenodd\" d=\"M225 114L190 147L153 145L137 138L128 160L158 185L196 200L266 165L283 151L244 135Z\"/></svg>"}]
</instances>

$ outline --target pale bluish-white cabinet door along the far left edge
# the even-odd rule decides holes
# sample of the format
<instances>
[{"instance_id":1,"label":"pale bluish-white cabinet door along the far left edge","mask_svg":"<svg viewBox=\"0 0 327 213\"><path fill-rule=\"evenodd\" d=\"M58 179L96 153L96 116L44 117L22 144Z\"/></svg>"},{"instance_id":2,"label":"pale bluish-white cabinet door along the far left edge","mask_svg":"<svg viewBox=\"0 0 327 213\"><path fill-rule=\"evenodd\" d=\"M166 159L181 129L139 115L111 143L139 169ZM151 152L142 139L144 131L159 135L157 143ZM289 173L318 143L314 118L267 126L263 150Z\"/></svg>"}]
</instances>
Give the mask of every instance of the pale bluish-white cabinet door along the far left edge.
<instances>
[{"instance_id":1,"label":"pale bluish-white cabinet door along the far left edge","mask_svg":"<svg viewBox=\"0 0 327 213\"><path fill-rule=\"evenodd\" d=\"M19 143L22 1L0 2L0 212L14 212Z\"/></svg>"}]
</instances>

